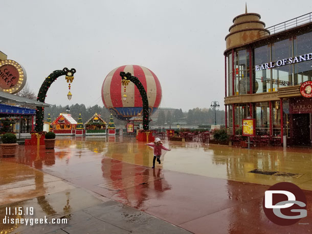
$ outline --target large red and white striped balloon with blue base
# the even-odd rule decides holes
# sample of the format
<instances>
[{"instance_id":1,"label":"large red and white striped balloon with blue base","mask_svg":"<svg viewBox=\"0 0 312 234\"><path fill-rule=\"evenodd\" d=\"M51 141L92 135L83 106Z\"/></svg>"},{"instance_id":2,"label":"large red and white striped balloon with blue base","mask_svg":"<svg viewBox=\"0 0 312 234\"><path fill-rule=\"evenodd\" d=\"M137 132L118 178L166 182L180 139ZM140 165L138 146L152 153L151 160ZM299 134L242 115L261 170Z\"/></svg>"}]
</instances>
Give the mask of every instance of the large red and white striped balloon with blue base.
<instances>
[{"instance_id":1,"label":"large red and white striped balloon with blue base","mask_svg":"<svg viewBox=\"0 0 312 234\"><path fill-rule=\"evenodd\" d=\"M142 114L143 103L139 89L129 82L124 92L120 72L131 73L141 81L147 93L149 114L157 110L162 99L162 87L157 76L150 69L139 65L120 66L108 73L102 85L104 106L119 120L127 120L138 113ZM127 95L126 101L122 100L124 94Z\"/></svg>"}]
</instances>

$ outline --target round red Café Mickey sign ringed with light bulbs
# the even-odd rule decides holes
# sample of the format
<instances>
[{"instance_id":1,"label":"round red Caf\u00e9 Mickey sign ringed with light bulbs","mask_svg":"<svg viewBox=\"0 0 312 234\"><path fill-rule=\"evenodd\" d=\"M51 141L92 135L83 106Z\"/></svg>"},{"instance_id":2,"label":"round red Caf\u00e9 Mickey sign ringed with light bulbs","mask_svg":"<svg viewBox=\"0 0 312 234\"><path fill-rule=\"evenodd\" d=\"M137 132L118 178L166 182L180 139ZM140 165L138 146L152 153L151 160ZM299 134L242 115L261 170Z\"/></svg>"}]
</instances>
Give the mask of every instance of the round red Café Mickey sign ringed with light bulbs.
<instances>
[{"instance_id":1,"label":"round red Caf\u00e9 Mickey sign ringed with light bulbs","mask_svg":"<svg viewBox=\"0 0 312 234\"><path fill-rule=\"evenodd\" d=\"M24 68L13 60L0 61L0 90L16 93L23 89L26 83Z\"/></svg>"}]
</instances>

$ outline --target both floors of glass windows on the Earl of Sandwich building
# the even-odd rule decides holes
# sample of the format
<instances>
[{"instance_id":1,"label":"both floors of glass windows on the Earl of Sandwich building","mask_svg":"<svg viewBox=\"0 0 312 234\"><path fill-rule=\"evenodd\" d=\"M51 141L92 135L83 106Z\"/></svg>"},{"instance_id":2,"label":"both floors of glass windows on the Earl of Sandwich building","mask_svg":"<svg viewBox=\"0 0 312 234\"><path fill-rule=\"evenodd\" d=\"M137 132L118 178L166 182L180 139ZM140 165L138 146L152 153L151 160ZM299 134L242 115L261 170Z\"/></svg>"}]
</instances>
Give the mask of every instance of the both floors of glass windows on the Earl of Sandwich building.
<instances>
[{"instance_id":1,"label":"both floors of glass windows on the Earl of Sandwich building","mask_svg":"<svg viewBox=\"0 0 312 234\"><path fill-rule=\"evenodd\" d=\"M258 43L261 44L260 46L256 44L246 45L246 48L232 49L226 54L227 97L264 93L270 95L270 93L277 93L280 88L283 90L291 86L299 87L301 83L312 80L312 32L292 35L282 40L277 38L264 45L261 41ZM303 115L295 115L303 112L293 111L292 114L290 110L289 105L296 103L297 98L300 99L294 96L294 98L271 100L269 98L269 101L257 99L256 102L239 103L237 101L228 104L229 133L240 135L242 119L251 116L256 120L256 135L258 136L280 138L282 134L288 138L294 136L292 128L295 122L298 120L299 123L303 120ZM311 122L312 113L306 114L309 114ZM308 116L306 118L308 120ZM283 126L283 131L281 126ZM312 128L311 126L310 123L309 128ZM311 138L312 133L310 141Z\"/></svg>"}]
</instances>

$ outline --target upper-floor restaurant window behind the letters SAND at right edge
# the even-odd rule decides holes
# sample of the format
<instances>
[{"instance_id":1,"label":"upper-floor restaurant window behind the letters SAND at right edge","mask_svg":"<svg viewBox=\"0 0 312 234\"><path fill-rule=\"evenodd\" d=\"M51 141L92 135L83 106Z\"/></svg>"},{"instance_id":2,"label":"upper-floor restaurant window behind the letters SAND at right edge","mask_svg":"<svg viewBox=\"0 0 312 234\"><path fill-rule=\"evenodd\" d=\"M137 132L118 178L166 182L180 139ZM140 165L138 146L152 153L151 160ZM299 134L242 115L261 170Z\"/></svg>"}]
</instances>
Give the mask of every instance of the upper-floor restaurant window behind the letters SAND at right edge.
<instances>
[{"instance_id":1,"label":"upper-floor restaurant window behind the letters SAND at right edge","mask_svg":"<svg viewBox=\"0 0 312 234\"><path fill-rule=\"evenodd\" d=\"M312 53L312 32L305 33L294 37L294 56L306 55ZM303 57L307 59L306 57ZM294 64L294 84L301 84L312 78L312 60L303 61L303 58L299 57L301 62Z\"/></svg>"}]
</instances>

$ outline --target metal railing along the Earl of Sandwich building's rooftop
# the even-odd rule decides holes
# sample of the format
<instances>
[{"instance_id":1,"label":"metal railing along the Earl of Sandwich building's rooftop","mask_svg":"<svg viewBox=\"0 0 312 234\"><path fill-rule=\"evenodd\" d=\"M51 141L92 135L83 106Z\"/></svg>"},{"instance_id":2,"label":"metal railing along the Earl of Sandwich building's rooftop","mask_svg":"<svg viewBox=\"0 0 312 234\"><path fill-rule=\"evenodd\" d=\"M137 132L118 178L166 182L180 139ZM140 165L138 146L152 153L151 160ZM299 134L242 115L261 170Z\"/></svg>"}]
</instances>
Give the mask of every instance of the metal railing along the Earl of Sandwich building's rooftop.
<instances>
[{"instance_id":1,"label":"metal railing along the Earl of Sandwich building's rooftop","mask_svg":"<svg viewBox=\"0 0 312 234\"><path fill-rule=\"evenodd\" d=\"M308 22L312 22L312 12L307 13L305 15L298 16L297 18L289 19L289 20L282 22L278 25L271 26L269 28L266 28L266 30L269 30L270 35L273 35L276 33L286 31L286 30L291 29L291 28L298 27L300 25L307 24ZM260 33L260 36L264 36L266 33L267 32L262 31Z\"/></svg>"}]
</instances>

